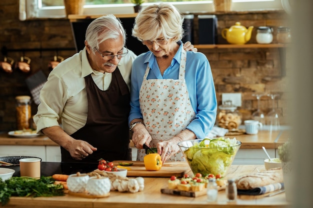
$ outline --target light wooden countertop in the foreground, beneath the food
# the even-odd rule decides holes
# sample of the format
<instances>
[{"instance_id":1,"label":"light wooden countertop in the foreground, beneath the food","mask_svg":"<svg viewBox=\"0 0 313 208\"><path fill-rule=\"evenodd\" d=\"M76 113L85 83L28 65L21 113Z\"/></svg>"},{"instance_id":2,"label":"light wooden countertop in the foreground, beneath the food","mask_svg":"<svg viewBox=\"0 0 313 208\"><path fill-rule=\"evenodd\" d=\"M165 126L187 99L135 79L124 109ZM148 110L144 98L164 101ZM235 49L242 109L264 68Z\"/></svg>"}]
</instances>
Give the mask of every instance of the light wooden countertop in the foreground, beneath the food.
<instances>
[{"instance_id":1,"label":"light wooden countertop in the foreground, beneath the food","mask_svg":"<svg viewBox=\"0 0 313 208\"><path fill-rule=\"evenodd\" d=\"M227 178L245 173L264 170L263 166L231 166ZM86 199L74 196L63 197L11 197L4 208L287 208L285 194L261 199L238 199L227 203L224 191L218 192L216 203L206 202L206 196L197 198L161 194L168 178L144 178L144 190L138 193L110 192L110 196L100 199ZM246 198L246 196L245 196Z\"/></svg>"}]
</instances>

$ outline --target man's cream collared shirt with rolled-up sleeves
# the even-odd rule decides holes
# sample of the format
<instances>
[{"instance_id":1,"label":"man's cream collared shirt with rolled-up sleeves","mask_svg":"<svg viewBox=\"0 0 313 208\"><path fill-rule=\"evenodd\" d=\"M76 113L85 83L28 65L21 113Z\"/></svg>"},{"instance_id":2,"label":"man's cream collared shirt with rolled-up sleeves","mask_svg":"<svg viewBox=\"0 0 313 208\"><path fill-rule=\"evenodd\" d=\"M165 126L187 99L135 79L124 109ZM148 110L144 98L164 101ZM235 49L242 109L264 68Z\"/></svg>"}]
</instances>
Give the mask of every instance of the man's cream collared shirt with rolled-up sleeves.
<instances>
[{"instance_id":1,"label":"man's cream collared shirt with rolled-up sleeves","mask_svg":"<svg viewBox=\"0 0 313 208\"><path fill-rule=\"evenodd\" d=\"M118 69L130 87L132 61L136 55L128 50L118 63ZM91 74L95 84L106 90L111 82L111 73L101 73L91 68L86 49L59 63L49 74L40 91L40 104L34 122L37 132L43 128L58 126L61 118L63 130L71 135L83 127L87 120L87 94L84 77ZM99 108L105 106L99 106Z\"/></svg>"}]
</instances>

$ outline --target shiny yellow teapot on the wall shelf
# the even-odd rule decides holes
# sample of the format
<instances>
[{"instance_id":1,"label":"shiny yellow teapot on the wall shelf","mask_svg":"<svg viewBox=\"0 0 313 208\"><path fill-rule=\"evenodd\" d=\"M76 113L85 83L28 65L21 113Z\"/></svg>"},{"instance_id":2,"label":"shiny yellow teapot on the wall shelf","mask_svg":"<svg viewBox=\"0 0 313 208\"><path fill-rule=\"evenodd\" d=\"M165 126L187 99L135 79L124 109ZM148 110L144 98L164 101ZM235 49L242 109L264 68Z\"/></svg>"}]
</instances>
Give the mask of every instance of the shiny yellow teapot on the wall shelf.
<instances>
[{"instance_id":1,"label":"shiny yellow teapot on the wall shelf","mask_svg":"<svg viewBox=\"0 0 313 208\"><path fill-rule=\"evenodd\" d=\"M240 22L236 22L229 29L224 28L221 30L221 36L231 44L244 44L251 38L253 26L245 28L240 25Z\"/></svg>"}]
</instances>

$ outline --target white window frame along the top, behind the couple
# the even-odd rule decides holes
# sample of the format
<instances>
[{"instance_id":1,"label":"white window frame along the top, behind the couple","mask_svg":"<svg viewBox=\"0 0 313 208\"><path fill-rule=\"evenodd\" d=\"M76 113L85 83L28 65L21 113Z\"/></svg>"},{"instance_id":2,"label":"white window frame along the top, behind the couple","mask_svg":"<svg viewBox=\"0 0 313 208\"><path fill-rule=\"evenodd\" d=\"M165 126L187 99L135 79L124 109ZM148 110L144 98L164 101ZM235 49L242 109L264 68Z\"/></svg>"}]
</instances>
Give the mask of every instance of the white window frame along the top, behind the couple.
<instances>
[{"instance_id":1,"label":"white window frame along the top, behind the couple","mask_svg":"<svg viewBox=\"0 0 313 208\"><path fill-rule=\"evenodd\" d=\"M241 2L245 1L245 2ZM249 10L280 10L283 9L281 0L233 0L232 11ZM264 2L265 1L265 2ZM155 3L155 2L154 2ZM142 3L147 6L154 3ZM170 2L174 4L182 13L206 13L214 12L212 0L204 1L180 1ZM99 4L84 5L83 15L98 14L130 14L134 13L133 3L122 4ZM38 18L65 18L64 6L41 6L41 0L20 0L19 1L19 19L38 19Z\"/></svg>"}]
</instances>

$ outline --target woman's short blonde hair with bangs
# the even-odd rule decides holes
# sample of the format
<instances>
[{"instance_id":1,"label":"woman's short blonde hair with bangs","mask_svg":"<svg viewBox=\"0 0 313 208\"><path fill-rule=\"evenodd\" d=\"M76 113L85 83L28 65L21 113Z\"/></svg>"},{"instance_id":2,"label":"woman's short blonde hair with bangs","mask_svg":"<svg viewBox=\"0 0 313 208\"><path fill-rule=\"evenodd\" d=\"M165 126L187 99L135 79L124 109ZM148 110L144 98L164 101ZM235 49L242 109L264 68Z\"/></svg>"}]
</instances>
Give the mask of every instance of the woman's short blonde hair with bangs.
<instances>
[{"instance_id":1,"label":"woman's short blonde hair with bangs","mask_svg":"<svg viewBox=\"0 0 313 208\"><path fill-rule=\"evenodd\" d=\"M177 42L183 37L183 15L169 3L142 8L135 18L132 36L138 40L155 40L160 36Z\"/></svg>"}]
</instances>

